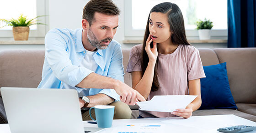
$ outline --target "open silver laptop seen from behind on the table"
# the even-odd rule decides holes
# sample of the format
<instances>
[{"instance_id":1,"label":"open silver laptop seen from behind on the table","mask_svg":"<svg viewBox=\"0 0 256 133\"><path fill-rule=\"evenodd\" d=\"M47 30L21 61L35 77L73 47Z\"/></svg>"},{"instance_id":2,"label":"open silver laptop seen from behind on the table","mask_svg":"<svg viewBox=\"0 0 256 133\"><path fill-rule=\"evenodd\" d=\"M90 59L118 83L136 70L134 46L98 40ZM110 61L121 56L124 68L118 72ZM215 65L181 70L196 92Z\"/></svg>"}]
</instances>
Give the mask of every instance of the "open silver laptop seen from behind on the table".
<instances>
[{"instance_id":1,"label":"open silver laptop seen from behind on the table","mask_svg":"<svg viewBox=\"0 0 256 133\"><path fill-rule=\"evenodd\" d=\"M1 87L11 133L94 133L84 127L73 89Z\"/></svg>"}]
</instances>

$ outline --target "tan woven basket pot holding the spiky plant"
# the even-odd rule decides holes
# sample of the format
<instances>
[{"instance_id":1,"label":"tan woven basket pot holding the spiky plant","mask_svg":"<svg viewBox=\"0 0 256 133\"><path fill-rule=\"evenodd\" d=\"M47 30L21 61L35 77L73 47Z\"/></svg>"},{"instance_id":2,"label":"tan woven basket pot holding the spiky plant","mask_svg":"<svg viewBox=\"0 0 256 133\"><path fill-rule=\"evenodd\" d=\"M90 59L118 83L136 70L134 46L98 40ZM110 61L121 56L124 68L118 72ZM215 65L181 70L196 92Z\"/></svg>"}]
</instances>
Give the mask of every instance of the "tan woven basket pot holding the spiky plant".
<instances>
[{"instance_id":1,"label":"tan woven basket pot holding the spiky plant","mask_svg":"<svg viewBox=\"0 0 256 133\"><path fill-rule=\"evenodd\" d=\"M17 26L12 27L13 37L15 41L28 39L29 27L27 26Z\"/></svg>"}]
</instances>

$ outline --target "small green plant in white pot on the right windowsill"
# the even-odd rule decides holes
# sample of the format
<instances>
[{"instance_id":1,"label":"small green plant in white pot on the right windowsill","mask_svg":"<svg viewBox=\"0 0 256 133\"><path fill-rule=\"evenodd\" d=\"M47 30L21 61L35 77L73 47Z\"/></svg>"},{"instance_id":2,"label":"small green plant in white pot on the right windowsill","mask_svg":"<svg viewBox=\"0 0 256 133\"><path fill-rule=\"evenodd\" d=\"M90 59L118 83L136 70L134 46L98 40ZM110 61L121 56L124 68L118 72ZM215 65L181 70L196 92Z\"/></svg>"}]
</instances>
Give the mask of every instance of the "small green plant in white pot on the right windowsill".
<instances>
[{"instance_id":1,"label":"small green plant in white pot on the right windowsill","mask_svg":"<svg viewBox=\"0 0 256 133\"><path fill-rule=\"evenodd\" d=\"M213 27L213 22L204 18L204 20L198 20L196 22L197 30L200 40L208 40L211 38L210 30Z\"/></svg>"}]
</instances>

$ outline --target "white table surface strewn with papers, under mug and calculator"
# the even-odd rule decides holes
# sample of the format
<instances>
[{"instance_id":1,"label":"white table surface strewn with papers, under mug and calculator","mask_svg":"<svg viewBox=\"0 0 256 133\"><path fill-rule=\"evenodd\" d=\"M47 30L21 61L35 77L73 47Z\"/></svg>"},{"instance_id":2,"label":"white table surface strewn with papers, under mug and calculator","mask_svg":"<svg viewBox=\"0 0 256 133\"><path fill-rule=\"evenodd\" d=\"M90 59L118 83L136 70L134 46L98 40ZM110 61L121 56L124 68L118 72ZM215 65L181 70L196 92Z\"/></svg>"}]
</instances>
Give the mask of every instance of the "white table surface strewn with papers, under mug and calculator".
<instances>
[{"instance_id":1,"label":"white table surface strewn with papers, under mug and calculator","mask_svg":"<svg viewBox=\"0 0 256 133\"><path fill-rule=\"evenodd\" d=\"M84 121L85 127L97 127L96 124ZM134 125L134 126L127 126ZM218 128L235 125L256 126L255 122L230 115L193 116L188 119L176 118L144 118L113 120L112 128L105 128L99 133L134 132L141 125L160 125L161 127L140 128L145 133L219 133ZM149 128L152 128L150 132ZM133 131L134 130L134 131ZM154 131L155 132L154 132ZM0 124L0 133L11 133L8 124ZM97 132L98 133L98 132ZM138 132L139 133L139 132ZM256 133L256 130L246 133Z\"/></svg>"}]
</instances>

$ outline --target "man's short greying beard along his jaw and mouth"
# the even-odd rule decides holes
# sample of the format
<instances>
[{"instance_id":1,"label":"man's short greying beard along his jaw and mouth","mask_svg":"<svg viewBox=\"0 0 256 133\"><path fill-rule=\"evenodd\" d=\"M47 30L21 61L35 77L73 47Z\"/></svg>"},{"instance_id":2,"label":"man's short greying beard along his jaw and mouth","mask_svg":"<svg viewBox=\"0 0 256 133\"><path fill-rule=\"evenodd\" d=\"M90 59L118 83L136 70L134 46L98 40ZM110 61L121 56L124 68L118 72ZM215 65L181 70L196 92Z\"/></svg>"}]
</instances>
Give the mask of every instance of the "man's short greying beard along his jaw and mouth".
<instances>
[{"instance_id":1,"label":"man's short greying beard along his jaw and mouth","mask_svg":"<svg viewBox=\"0 0 256 133\"><path fill-rule=\"evenodd\" d=\"M92 46L96 47L97 49L106 49L108 45L104 45L101 44L101 42L103 41L112 41L112 38L107 37L101 41L98 41L96 36L93 34L93 32L91 31L91 27L88 30L87 33L87 41L89 41L91 43Z\"/></svg>"}]
</instances>

